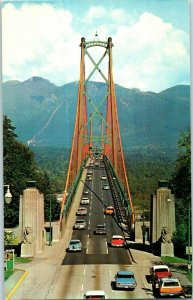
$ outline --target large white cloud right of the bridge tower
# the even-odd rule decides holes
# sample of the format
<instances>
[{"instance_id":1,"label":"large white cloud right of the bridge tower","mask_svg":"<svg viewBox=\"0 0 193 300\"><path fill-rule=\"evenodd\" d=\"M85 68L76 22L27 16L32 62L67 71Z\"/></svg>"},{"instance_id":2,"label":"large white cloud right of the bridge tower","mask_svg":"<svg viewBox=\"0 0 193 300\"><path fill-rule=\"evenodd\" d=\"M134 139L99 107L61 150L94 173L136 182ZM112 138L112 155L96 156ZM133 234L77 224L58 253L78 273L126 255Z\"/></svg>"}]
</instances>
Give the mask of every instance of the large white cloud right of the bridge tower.
<instances>
[{"instance_id":1,"label":"large white cloud right of the bridge tower","mask_svg":"<svg viewBox=\"0 0 193 300\"><path fill-rule=\"evenodd\" d=\"M188 35L150 13L122 26L113 38L115 82L125 87L160 91L189 83ZM121 55L120 55L121 51Z\"/></svg>"}]
</instances>

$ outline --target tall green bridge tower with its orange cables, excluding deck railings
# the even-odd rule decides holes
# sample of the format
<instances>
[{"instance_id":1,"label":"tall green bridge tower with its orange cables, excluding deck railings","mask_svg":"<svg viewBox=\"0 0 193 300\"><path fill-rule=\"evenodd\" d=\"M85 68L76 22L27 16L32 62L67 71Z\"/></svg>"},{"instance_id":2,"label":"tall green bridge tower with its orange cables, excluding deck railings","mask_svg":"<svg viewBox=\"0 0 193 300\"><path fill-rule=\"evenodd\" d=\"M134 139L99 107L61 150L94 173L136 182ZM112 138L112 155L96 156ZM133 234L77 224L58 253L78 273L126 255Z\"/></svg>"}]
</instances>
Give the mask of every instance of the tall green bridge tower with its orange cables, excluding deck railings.
<instances>
[{"instance_id":1,"label":"tall green bridge tower with its orange cables, excluding deck railings","mask_svg":"<svg viewBox=\"0 0 193 300\"><path fill-rule=\"evenodd\" d=\"M86 42L85 38L82 37L80 47L78 101L69 168L62 200L61 219L68 192L84 160L89 156L105 155L123 184L132 212L132 223L134 224L133 205L124 162L113 81L112 38L109 37L107 42L99 41L96 33L94 41ZM100 48L102 51L102 55L100 53L97 62L96 58L91 55L91 50L94 47L95 49ZM101 68L101 66L104 67L105 59L107 59L106 73ZM86 62L92 65L87 76L85 76ZM94 98L94 87L90 79L96 73L104 81L104 89L102 95L101 91L98 90L98 96Z\"/></svg>"}]
</instances>

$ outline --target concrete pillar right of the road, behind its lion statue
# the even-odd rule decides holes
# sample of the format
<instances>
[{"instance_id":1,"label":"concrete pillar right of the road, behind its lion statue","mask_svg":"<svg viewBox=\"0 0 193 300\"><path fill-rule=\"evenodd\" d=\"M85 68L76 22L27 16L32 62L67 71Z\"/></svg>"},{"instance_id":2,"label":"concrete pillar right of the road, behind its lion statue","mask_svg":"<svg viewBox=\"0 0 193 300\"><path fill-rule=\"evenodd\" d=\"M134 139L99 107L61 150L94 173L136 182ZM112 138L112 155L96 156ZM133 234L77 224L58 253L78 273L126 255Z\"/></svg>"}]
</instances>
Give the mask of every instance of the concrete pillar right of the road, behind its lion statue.
<instances>
[{"instance_id":1,"label":"concrete pillar right of the road, behind its lion statue","mask_svg":"<svg viewBox=\"0 0 193 300\"><path fill-rule=\"evenodd\" d=\"M176 230L174 196L165 180L158 182L157 193L152 195L151 212L151 243L155 243L161 237L163 227L171 234Z\"/></svg>"}]
</instances>

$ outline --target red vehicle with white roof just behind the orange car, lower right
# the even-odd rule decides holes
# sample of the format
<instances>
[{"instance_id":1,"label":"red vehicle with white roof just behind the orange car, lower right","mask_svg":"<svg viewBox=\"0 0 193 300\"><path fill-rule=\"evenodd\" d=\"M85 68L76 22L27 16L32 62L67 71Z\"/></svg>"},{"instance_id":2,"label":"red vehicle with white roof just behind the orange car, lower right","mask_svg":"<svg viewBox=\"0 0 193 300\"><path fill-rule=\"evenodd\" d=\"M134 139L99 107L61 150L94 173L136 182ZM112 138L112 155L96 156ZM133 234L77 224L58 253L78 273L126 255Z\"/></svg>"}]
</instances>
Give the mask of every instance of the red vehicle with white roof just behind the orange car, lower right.
<instances>
[{"instance_id":1,"label":"red vehicle with white roof just behind the orange car, lower right","mask_svg":"<svg viewBox=\"0 0 193 300\"><path fill-rule=\"evenodd\" d=\"M158 283L162 278L170 278L172 273L167 265L155 265L150 268L150 283L152 288L158 288Z\"/></svg>"}]
</instances>

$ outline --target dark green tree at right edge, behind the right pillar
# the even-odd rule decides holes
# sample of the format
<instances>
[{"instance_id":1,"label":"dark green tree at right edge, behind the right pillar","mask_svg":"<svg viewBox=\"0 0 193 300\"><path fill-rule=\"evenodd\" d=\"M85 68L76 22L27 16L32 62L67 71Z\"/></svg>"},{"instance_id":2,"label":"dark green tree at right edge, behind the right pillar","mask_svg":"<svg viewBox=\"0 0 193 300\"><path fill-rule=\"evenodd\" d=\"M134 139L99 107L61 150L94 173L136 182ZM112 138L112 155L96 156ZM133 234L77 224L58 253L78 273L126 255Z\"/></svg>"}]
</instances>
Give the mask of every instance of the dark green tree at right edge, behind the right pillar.
<instances>
[{"instance_id":1,"label":"dark green tree at right edge, behind the right pillar","mask_svg":"<svg viewBox=\"0 0 193 300\"><path fill-rule=\"evenodd\" d=\"M176 234L174 242L179 253L185 253L191 235L191 135L190 131L182 133L178 143L178 157L171 179L172 191L175 195Z\"/></svg>"}]
</instances>

